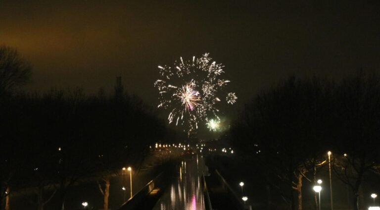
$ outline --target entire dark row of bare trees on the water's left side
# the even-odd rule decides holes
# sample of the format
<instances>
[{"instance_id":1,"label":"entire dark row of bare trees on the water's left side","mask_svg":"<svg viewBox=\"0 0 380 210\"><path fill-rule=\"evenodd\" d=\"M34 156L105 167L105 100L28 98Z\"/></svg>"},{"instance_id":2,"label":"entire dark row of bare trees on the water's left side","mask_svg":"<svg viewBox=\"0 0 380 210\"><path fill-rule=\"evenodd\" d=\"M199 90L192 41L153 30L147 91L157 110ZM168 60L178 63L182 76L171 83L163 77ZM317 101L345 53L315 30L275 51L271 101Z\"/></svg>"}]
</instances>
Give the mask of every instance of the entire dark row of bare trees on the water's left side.
<instances>
[{"instance_id":1,"label":"entire dark row of bare trees on the water's left side","mask_svg":"<svg viewBox=\"0 0 380 210\"><path fill-rule=\"evenodd\" d=\"M74 184L98 179L107 210L110 174L138 164L148 145L166 135L164 123L120 86L113 96L86 96L80 88L14 92L30 73L16 51L0 48L0 207L29 189L38 210L53 196L55 209L64 210Z\"/></svg>"}]
</instances>

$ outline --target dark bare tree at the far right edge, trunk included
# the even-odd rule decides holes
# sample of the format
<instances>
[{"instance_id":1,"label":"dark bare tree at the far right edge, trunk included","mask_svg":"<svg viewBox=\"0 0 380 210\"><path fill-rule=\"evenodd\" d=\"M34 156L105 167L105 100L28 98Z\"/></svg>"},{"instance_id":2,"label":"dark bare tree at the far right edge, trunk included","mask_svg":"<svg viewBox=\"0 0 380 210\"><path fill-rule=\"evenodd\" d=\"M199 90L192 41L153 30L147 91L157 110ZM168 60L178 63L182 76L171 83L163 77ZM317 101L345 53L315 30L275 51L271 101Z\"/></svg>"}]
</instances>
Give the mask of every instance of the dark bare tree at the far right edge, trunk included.
<instances>
[{"instance_id":1,"label":"dark bare tree at the far right edge, trunk included","mask_svg":"<svg viewBox=\"0 0 380 210\"><path fill-rule=\"evenodd\" d=\"M346 79L336 93L334 169L337 177L349 186L354 195L353 210L359 207L359 189L363 177L377 172L380 163L380 76L363 71Z\"/></svg>"}]
</instances>

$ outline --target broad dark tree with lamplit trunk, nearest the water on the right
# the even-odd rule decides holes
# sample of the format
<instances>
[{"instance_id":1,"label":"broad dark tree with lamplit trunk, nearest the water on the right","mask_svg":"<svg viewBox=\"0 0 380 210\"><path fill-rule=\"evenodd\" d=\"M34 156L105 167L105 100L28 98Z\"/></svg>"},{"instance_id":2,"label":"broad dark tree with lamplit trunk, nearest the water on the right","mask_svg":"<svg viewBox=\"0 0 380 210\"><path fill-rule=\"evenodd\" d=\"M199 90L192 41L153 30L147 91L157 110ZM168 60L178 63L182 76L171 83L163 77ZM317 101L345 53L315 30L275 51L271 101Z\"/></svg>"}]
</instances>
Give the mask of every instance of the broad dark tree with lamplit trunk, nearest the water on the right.
<instances>
[{"instance_id":1,"label":"broad dark tree with lamplit trunk, nearest the water on the right","mask_svg":"<svg viewBox=\"0 0 380 210\"><path fill-rule=\"evenodd\" d=\"M290 77L245 105L232 128L234 144L251 154L263 177L292 210L302 209L302 181L323 163L332 85L318 78ZM296 195L293 192L297 192Z\"/></svg>"}]
</instances>

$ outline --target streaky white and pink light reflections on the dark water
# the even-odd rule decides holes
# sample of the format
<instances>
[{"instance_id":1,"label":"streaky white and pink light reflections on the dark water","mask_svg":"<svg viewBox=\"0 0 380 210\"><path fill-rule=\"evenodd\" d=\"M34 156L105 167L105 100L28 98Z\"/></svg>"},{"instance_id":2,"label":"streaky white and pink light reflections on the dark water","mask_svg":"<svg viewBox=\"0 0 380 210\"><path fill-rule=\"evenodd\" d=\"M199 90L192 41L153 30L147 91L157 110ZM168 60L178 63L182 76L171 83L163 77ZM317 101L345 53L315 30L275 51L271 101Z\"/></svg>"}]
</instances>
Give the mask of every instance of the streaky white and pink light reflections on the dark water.
<instances>
[{"instance_id":1,"label":"streaky white and pink light reflections on the dark water","mask_svg":"<svg viewBox=\"0 0 380 210\"><path fill-rule=\"evenodd\" d=\"M181 162L178 177L158 200L153 210L204 210L201 175L204 170L201 156Z\"/></svg>"}]
</instances>

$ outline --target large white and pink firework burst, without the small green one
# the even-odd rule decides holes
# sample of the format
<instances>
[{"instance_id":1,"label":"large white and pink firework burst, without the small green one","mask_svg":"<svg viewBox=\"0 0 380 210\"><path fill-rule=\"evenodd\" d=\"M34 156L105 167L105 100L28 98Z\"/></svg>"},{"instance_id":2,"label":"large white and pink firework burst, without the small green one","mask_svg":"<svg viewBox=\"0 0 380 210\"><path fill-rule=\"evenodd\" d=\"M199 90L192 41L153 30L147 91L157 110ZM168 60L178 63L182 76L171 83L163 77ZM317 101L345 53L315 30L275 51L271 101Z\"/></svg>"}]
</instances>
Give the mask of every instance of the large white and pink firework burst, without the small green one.
<instances>
[{"instance_id":1,"label":"large white and pink firework burst, without the small green one","mask_svg":"<svg viewBox=\"0 0 380 210\"><path fill-rule=\"evenodd\" d=\"M184 126L184 131L197 129L198 122L207 118L218 119L217 106L221 99L227 104L235 104L238 97L235 93L224 93L229 80L219 79L224 73L223 65L212 61L208 53L192 60L183 60L173 66L159 65L160 78L154 86L159 91L159 105L169 109L169 123ZM224 97L221 95L226 94Z\"/></svg>"}]
</instances>

